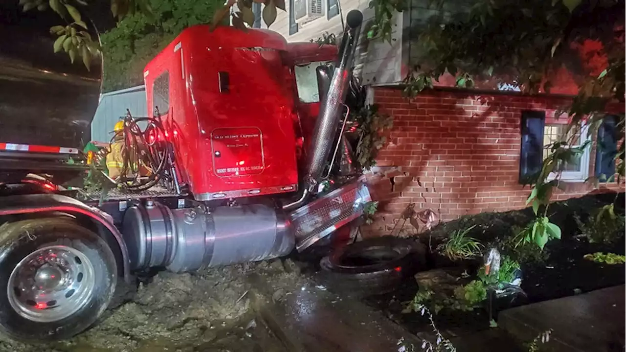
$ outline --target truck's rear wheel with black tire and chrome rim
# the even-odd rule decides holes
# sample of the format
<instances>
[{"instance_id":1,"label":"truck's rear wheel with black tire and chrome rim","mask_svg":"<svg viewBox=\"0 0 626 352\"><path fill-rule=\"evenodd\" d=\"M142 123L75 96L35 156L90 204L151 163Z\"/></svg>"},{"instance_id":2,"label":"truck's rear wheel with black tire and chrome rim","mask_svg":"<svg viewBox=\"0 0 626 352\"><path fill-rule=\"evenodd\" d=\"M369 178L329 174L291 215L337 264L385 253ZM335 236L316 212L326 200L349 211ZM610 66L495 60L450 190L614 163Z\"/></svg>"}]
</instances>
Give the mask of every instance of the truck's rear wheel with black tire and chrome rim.
<instances>
[{"instance_id":1,"label":"truck's rear wheel with black tire and chrome rim","mask_svg":"<svg viewBox=\"0 0 626 352\"><path fill-rule=\"evenodd\" d=\"M22 341L74 336L113 297L117 266L98 235L68 219L0 227L0 330Z\"/></svg>"}]
</instances>

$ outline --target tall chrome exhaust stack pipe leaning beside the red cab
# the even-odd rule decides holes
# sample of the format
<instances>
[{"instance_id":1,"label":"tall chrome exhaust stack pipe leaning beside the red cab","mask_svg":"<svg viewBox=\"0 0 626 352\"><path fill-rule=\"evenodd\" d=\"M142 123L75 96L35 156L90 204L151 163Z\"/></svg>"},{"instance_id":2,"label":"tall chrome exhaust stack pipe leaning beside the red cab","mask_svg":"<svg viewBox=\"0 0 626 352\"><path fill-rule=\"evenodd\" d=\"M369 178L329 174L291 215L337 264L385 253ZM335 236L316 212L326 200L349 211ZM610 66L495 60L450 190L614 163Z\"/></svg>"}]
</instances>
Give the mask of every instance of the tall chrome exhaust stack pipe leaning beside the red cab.
<instances>
[{"instance_id":1,"label":"tall chrome exhaust stack pipe leaning beside the red cab","mask_svg":"<svg viewBox=\"0 0 626 352\"><path fill-rule=\"evenodd\" d=\"M361 34L362 22L363 14L359 10L352 10L346 16L346 29L344 29L344 35L341 39L339 58L327 94L322 98L319 115L311 137L302 187L303 193L299 200L285 205L284 209L295 209L304 204L309 194L314 192L322 172L324 172L324 166L328 161L332 142L339 127L339 118L342 116L341 110L352 76L354 52L359 41L359 34Z\"/></svg>"}]
</instances>

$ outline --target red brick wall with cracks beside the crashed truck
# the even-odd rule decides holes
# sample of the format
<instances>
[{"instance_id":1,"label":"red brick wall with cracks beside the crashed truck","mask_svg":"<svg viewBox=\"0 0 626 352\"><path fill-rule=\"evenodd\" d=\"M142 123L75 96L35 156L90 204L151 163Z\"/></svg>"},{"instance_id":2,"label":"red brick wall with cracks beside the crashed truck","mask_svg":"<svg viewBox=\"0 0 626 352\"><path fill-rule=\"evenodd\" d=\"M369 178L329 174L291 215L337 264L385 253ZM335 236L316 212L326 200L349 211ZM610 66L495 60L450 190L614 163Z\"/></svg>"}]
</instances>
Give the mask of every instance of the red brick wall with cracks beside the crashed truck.
<instances>
[{"instance_id":1,"label":"red brick wall with cracks beside the crashed truck","mask_svg":"<svg viewBox=\"0 0 626 352\"><path fill-rule=\"evenodd\" d=\"M369 230L389 231L407 205L440 212L442 220L466 214L500 212L525 207L528 186L519 182L521 113L567 107L567 98L521 95L477 95L463 91L429 91L413 100L397 88L376 88L374 102L394 116L389 144L377 160L380 167L398 167L394 177L377 179L372 196L379 212ZM620 106L612 106L619 110ZM622 109L626 111L626 109ZM595 146L590 156L593 175ZM553 197L564 200L590 192L615 189L615 184L573 182Z\"/></svg>"}]
</instances>

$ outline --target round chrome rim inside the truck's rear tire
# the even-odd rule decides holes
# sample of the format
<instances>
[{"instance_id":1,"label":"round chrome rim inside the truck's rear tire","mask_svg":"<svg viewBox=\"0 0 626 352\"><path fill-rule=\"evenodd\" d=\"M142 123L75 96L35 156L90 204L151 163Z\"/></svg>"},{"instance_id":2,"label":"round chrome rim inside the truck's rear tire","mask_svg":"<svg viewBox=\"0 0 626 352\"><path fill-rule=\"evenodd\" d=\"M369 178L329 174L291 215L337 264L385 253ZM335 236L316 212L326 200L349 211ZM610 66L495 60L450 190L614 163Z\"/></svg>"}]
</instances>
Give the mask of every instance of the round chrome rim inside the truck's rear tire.
<instances>
[{"instance_id":1,"label":"round chrome rim inside the truck's rear tire","mask_svg":"<svg viewBox=\"0 0 626 352\"><path fill-rule=\"evenodd\" d=\"M15 266L7 296L23 318L49 323L83 308L95 285L93 264L83 252L49 246L32 252Z\"/></svg>"}]
</instances>

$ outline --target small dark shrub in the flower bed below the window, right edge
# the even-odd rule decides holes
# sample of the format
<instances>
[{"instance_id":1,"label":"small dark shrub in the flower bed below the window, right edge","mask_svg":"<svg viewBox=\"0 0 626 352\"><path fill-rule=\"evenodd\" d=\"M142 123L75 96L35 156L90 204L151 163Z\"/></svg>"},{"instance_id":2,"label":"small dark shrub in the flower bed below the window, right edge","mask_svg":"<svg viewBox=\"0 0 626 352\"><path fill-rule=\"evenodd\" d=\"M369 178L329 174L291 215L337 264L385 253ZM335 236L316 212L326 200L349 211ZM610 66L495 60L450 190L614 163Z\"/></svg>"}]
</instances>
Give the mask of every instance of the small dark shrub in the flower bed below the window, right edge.
<instances>
[{"instance_id":1,"label":"small dark shrub in the flower bed below the window, right edge","mask_svg":"<svg viewBox=\"0 0 626 352\"><path fill-rule=\"evenodd\" d=\"M590 243L612 244L622 238L626 230L626 216L615 214L613 204L605 205L594 213L587 222L574 215L578 229Z\"/></svg>"}]
</instances>

